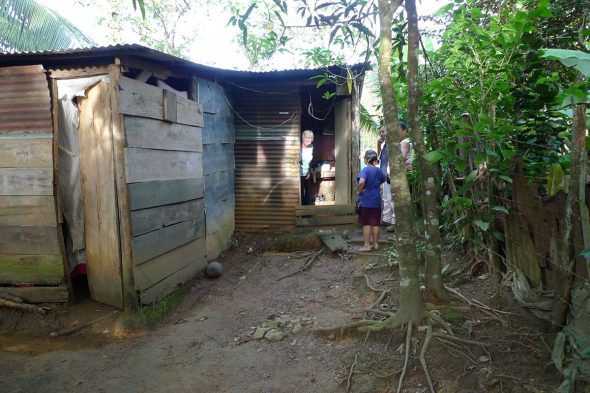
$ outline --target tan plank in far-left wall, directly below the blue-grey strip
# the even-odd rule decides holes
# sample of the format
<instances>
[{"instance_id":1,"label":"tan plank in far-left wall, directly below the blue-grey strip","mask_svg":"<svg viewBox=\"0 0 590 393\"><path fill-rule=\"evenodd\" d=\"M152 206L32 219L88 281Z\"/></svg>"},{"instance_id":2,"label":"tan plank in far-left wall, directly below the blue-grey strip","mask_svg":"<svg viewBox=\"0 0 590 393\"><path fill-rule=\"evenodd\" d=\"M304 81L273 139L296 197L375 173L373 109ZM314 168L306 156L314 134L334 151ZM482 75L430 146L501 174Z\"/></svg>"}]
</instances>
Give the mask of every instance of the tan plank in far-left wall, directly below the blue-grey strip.
<instances>
[{"instance_id":1,"label":"tan plank in far-left wall, directly below the blue-grey strip","mask_svg":"<svg viewBox=\"0 0 590 393\"><path fill-rule=\"evenodd\" d=\"M0 167L51 168L52 143L51 139L0 138Z\"/></svg>"}]
</instances>

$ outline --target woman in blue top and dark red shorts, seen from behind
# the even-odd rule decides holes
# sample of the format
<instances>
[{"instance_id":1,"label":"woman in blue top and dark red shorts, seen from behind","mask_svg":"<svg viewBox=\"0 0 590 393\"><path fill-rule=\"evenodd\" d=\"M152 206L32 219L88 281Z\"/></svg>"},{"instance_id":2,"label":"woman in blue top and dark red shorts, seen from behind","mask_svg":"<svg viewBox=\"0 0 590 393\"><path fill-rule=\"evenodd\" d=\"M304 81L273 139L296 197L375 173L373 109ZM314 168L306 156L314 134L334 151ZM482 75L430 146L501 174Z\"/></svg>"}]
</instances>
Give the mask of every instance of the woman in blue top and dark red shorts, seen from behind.
<instances>
[{"instance_id":1,"label":"woman in blue top and dark red shorts, seen from behind","mask_svg":"<svg viewBox=\"0 0 590 393\"><path fill-rule=\"evenodd\" d=\"M381 222L381 184L387 180L387 174L379 168L379 159L374 150L365 152L365 164L357 176L358 199L361 205L358 223L363 226L364 245L360 251L379 249L379 224Z\"/></svg>"}]
</instances>

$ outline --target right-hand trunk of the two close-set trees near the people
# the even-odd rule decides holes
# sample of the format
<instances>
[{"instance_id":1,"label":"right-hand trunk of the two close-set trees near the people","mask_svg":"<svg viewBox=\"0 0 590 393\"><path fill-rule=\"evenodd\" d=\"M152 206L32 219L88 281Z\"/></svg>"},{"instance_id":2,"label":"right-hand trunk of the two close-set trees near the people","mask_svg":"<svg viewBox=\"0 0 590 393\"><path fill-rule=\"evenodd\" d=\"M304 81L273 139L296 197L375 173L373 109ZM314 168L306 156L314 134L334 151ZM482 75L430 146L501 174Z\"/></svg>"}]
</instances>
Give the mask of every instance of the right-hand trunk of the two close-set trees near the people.
<instances>
[{"instance_id":1,"label":"right-hand trunk of the two close-set trees near the people","mask_svg":"<svg viewBox=\"0 0 590 393\"><path fill-rule=\"evenodd\" d=\"M426 146L420 132L418 108L420 97L418 91L418 48L420 36L418 30L418 14L416 1L406 0L408 14L408 126L414 142L416 161L422 179L422 203L424 214L424 230L426 236L425 278L426 290L431 298L438 302L447 302L448 298L442 282L440 237L440 220L436 200L436 182L434 167L425 162Z\"/></svg>"}]
</instances>

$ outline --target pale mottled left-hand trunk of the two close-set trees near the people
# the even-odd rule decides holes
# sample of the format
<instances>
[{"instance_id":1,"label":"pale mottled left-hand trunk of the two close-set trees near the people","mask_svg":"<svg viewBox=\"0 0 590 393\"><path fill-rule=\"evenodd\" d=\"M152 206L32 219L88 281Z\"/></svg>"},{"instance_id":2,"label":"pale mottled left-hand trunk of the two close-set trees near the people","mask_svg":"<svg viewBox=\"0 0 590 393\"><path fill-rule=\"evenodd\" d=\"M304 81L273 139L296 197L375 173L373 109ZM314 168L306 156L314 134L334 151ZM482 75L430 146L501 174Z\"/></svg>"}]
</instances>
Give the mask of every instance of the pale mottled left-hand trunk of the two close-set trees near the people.
<instances>
[{"instance_id":1,"label":"pale mottled left-hand trunk of the two close-set trees near the people","mask_svg":"<svg viewBox=\"0 0 590 393\"><path fill-rule=\"evenodd\" d=\"M395 198L397 229L394 245L399 256L400 308L396 323L412 321L419 324L424 317L424 303L420 296L418 279L418 258L416 256L416 236L413 231L414 215L410 188L406 178L405 165L399 146L400 135L397 117L397 102L393 93L391 79L391 26L393 14L400 1L393 3L379 0L379 85L383 100L386 143L389 148L391 168L391 191Z\"/></svg>"}]
</instances>

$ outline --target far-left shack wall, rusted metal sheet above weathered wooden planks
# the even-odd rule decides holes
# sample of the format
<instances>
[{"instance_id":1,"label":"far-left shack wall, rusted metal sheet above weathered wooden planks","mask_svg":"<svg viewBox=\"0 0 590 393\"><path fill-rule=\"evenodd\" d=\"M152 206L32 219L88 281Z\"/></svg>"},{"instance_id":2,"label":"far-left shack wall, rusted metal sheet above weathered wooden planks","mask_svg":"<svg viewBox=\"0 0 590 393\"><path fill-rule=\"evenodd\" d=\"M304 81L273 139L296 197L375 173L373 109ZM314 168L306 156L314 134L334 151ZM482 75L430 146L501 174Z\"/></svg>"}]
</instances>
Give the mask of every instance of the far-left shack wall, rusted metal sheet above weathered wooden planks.
<instances>
[{"instance_id":1,"label":"far-left shack wall, rusted metal sheet above weathered wooden planks","mask_svg":"<svg viewBox=\"0 0 590 393\"><path fill-rule=\"evenodd\" d=\"M0 292L67 301L43 67L0 68ZM23 285L25 284L25 285Z\"/></svg>"}]
</instances>

